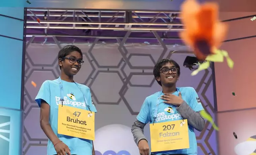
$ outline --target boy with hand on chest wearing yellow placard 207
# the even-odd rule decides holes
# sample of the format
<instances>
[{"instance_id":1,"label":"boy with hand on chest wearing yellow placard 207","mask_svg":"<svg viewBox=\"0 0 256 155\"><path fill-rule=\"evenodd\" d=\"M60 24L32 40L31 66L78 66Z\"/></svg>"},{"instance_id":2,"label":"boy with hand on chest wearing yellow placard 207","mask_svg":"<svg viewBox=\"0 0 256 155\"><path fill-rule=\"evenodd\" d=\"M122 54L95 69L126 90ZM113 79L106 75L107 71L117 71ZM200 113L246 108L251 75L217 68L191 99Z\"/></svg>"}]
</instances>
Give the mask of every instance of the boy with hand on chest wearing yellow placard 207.
<instances>
[{"instance_id":1,"label":"boy with hand on chest wearing yellow placard 207","mask_svg":"<svg viewBox=\"0 0 256 155\"><path fill-rule=\"evenodd\" d=\"M202 131L204 110L192 87L176 87L180 66L171 59L157 62L153 74L162 91L147 96L132 125L134 141L141 155L149 155L149 146L143 134L150 123L151 154L197 155L194 129Z\"/></svg>"}]
</instances>

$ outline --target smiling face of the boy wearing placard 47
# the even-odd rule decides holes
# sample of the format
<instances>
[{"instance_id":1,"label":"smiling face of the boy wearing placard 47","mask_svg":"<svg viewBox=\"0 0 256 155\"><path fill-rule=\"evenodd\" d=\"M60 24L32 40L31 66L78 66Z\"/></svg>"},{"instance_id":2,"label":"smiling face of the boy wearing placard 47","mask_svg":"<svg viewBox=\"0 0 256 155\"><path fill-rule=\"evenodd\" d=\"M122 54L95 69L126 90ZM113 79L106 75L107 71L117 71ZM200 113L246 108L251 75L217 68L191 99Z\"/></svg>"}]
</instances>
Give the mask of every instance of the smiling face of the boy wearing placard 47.
<instances>
[{"instance_id":1,"label":"smiling face of the boy wearing placard 47","mask_svg":"<svg viewBox=\"0 0 256 155\"><path fill-rule=\"evenodd\" d=\"M81 68L82 56L78 51L72 51L64 58L59 59L59 66L61 71L67 76L74 76Z\"/></svg>"}]
</instances>

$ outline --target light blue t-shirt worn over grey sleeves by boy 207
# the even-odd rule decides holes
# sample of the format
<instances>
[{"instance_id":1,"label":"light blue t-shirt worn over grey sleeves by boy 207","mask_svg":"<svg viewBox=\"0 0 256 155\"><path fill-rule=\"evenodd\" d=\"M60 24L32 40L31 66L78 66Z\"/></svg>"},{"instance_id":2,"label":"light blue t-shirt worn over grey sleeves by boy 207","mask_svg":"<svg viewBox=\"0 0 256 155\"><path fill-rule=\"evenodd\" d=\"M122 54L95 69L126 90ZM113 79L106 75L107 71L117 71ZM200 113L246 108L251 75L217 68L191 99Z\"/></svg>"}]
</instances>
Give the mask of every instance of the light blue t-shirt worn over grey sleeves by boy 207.
<instances>
[{"instance_id":1,"label":"light blue t-shirt worn over grey sleeves by boy 207","mask_svg":"<svg viewBox=\"0 0 256 155\"><path fill-rule=\"evenodd\" d=\"M198 95L194 88L192 87L178 87L176 88L175 93L173 95L178 96L178 93L181 92L182 99L196 112L204 110ZM144 103L142 104L142 108L140 113L137 116L138 121L147 124L148 122L153 123L155 108L157 108L157 103L159 102L159 97L162 96L162 91L159 91L153 95L147 96ZM157 110L157 118L155 123L168 122L168 121L176 121L183 119L176 110L176 106L171 104L165 104L164 100L160 99L158 110ZM171 108L170 108L171 107ZM188 149L178 149L178 150L170 150L170 151L161 151L154 152L154 155L171 155L171 154L182 154L182 155L197 155L197 142L196 135L194 133L194 128L191 125L188 125L188 136L189 136L189 147Z\"/></svg>"}]
</instances>

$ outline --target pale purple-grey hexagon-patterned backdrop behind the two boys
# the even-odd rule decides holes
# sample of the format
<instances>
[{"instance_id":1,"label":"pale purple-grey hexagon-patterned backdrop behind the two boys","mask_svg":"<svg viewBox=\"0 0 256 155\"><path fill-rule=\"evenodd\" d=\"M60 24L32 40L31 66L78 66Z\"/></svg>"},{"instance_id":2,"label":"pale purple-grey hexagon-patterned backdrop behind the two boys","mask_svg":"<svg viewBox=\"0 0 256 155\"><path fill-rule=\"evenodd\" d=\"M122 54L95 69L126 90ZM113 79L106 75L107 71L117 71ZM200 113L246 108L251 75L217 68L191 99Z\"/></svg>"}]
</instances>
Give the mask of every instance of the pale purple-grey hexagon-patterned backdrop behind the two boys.
<instances>
[{"instance_id":1,"label":"pale purple-grey hexagon-patterned backdrop behind the two boys","mask_svg":"<svg viewBox=\"0 0 256 155\"><path fill-rule=\"evenodd\" d=\"M97 41L96 39L95 42ZM40 127L40 109L34 98L45 80L58 78L60 69L57 55L63 46L62 44L27 44L23 155L34 155L35 153L46 155L48 139ZM96 132L112 124L131 128L145 97L161 90L154 79L153 66L157 60L163 58L174 59L180 64L181 74L177 86L194 87L205 110L214 117L211 69L202 71L196 76L190 76L191 71L182 65L186 56L192 55L191 52L184 50L171 53L173 46L163 44L124 45L120 43L119 45L78 44L77 46L83 51L85 63L74 80L91 89L92 99L98 111L95 118ZM31 81L34 81L37 87L33 87ZM149 139L149 125L145 127L144 133ZM125 136L132 136L132 134L124 135L124 141L130 138L125 138ZM198 155L217 155L216 132L209 122L206 123L202 132L196 131L196 136ZM107 140L108 144L101 145L108 145L110 150L118 149L116 148L118 146L111 146L111 141L114 139ZM127 143L135 145L132 138ZM120 142L121 144L122 142ZM99 147L101 146L95 146L95 150L100 150Z\"/></svg>"}]
</instances>

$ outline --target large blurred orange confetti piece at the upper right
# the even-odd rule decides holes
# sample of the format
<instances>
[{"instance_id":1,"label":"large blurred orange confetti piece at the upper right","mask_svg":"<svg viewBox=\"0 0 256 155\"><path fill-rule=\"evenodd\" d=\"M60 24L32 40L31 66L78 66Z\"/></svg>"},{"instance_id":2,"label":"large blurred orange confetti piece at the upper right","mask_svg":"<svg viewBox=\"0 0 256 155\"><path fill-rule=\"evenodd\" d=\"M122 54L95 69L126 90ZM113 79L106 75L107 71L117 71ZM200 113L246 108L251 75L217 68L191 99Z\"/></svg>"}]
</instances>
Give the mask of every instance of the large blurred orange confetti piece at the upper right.
<instances>
[{"instance_id":1,"label":"large blurred orange confetti piece at the upper right","mask_svg":"<svg viewBox=\"0 0 256 155\"><path fill-rule=\"evenodd\" d=\"M193 49L198 60L216 54L215 47L222 44L227 34L227 24L216 17L218 8L215 2L201 4L197 0L185 0L180 7L180 20L185 28L179 32L180 38Z\"/></svg>"}]
</instances>

